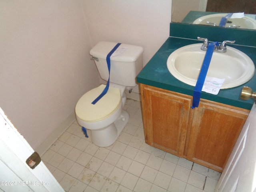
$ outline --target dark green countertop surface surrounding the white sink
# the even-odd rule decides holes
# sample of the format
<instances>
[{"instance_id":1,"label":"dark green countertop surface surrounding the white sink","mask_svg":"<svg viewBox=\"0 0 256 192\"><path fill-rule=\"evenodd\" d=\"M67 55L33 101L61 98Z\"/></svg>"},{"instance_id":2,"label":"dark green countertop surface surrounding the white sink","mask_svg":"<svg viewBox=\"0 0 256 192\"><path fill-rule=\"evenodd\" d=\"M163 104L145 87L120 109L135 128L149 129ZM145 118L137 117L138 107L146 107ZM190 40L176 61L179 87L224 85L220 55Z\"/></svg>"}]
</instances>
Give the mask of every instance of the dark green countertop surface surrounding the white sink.
<instances>
[{"instance_id":1,"label":"dark green countertop surface surrounding the white sink","mask_svg":"<svg viewBox=\"0 0 256 192\"><path fill-rule=\"evenodd\" d=\"M176 49L185 45L200 42L202 41L169 37L148 64L142 69L140 74L138 74L137 82L193 96L194 86L185 84L172 76L166 66L166 62L168 56ZM230 44L228 46L241 50L253 60L254 64L256 64L256 47ZM221 89L218 95L202 92L201 98L250 110L254 101L252 99L246 101L239 99L243 86L249 86L253 91L256 91L256 74L254 73L252 79L241 86Z\"/></svg>"}]
</instances>

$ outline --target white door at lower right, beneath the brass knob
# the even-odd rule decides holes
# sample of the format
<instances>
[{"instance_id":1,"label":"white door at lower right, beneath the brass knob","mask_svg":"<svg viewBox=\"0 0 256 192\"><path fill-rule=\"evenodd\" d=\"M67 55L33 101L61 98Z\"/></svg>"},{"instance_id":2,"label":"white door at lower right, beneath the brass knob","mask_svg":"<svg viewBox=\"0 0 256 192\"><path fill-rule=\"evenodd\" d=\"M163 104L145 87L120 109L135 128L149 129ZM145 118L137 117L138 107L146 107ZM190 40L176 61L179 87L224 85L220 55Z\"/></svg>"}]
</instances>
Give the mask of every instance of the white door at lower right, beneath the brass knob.
<instances>
[{"instance_id":1,"label":"white door at lower right, beneath the brass knob","mask_svg":"<svg viewBox=\"0 0 256 192\"><path fill-rule=\"evenodd\" d=\"M256 104L242 128L215 192L256 192Z\"/></svg>"}]
</instances>

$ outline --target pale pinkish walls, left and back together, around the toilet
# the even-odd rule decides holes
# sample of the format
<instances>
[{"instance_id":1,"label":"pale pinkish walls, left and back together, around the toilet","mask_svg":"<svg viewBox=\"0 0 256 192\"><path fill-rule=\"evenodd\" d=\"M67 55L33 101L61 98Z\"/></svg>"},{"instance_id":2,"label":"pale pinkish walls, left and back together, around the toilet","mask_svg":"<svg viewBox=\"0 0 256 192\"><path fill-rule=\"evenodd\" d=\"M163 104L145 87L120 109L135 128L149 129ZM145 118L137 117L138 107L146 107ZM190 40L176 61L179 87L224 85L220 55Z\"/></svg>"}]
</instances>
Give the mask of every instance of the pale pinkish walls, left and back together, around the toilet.
<instances>
[{"instance_id":1,"label":"pale pinkish walls, left and back together, around the toilet","mask_svg":"<svg viewBox=\"0 0 256 192\"><path fill-rule=\"evenodd\" d=\"M0 1L0 107L34 149L100 83L90 48L142 46L145 65L169 36L171 2Z\"/></svg>"}]
</instances>

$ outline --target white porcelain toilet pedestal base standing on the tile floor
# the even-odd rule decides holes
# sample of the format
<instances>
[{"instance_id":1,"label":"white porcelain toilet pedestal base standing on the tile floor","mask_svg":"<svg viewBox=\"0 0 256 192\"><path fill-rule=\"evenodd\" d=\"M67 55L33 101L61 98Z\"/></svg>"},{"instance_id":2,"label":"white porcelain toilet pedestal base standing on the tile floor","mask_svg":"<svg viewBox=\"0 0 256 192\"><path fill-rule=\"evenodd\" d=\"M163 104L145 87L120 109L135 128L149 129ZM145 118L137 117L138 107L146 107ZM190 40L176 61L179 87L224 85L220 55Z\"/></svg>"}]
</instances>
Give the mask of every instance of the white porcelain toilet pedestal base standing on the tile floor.
<instances>
[{"instance_id":1,"label":"white porcelain toilet pedestal base standing on the tile floor","mask_svg":"<svg viewBox=\"0 0 256 192\"><path fill-rule=\"evenodd\" d=\"M108 127L99 130L91 130L92 142L99 147L108 147L112 145L128 121L129 114L123 110L118 119Z\"/></svg>"}]
</instances>

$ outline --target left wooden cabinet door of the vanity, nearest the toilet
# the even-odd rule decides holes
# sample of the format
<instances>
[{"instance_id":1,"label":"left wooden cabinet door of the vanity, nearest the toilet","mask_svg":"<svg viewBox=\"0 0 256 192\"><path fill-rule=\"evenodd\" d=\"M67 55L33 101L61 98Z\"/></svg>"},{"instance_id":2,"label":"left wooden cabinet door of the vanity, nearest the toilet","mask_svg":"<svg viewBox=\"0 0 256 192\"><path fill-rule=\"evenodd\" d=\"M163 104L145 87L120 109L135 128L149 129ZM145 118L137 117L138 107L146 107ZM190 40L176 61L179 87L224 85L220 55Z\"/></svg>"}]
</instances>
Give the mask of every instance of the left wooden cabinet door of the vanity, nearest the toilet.
<instances>
[{"instance_id":1,"label":"left wooden cabinet door of the vanity, nearest the toilet","mask_svg":"<svg viewBox=\"0 0 256 192\"><path fill-rule=\"evenodd\" d=\"M146 143L183 156L189 119L192 119L191 98L143 84L141 90Z\"/></svg>"}]
</instances>

